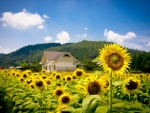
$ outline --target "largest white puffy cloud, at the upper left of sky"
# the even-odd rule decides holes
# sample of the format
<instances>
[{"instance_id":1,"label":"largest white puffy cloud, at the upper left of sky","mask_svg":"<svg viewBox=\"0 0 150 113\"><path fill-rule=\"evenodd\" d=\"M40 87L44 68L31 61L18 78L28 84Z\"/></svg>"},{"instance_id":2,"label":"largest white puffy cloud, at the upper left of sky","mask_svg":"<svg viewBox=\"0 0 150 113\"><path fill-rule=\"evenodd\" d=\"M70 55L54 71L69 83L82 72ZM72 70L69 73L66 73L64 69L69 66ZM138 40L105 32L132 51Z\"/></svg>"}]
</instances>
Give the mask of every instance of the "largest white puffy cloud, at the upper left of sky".
<instances>
[{"instance_id":1,"label":"largest white puffy cloud, at the upper left of sky","mask_svg":"<svg viewBox=\"0 0 150 113\"><path fill-rule=\"evenodd\" d=\"M45 20L37 13L31 14L23 9L23 11L19 13L4 12L0 21L4 21L4 23L13 28L25 29L30 26L42 25Z\"/></svg>"}]
</instances>

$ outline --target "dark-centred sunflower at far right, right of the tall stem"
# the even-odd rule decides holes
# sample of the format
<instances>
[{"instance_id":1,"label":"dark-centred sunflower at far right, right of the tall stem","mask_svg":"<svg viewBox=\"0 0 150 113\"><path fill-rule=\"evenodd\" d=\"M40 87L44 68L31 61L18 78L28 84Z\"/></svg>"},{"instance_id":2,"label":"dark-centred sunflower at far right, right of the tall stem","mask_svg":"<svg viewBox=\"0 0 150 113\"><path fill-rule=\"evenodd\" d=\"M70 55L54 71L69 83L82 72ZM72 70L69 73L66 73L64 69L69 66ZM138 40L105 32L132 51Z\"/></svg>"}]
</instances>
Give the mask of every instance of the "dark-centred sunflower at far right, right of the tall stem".
<instances>
[{"instance_id":1,"label":"dark-centred sunflower at far right, right of the tall stem","mask_svg":"<svg viewBox=\"0 0 150 113\"><path fill-rule=\"evenodd\" d=\"M124 91L128 94L135 93L141 88L141 82L136 78L129 77L125 79L124 82L128 83L123 85Z\"/></svg>"}]
</instances>

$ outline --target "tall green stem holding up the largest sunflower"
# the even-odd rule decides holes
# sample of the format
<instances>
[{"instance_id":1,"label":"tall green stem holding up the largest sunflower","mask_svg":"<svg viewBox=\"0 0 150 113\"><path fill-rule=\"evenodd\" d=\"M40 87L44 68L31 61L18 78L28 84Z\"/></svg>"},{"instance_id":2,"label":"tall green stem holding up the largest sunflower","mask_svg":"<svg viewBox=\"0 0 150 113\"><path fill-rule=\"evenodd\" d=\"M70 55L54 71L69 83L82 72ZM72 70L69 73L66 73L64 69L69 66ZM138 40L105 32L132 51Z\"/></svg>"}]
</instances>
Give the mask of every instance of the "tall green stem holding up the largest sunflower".
<instances>
[{"instance_id":1,"label":"tall green stem holding up the largest sunflower","mask_svg":"<svg viewBox=\"0 0 150 113\"><path fill-rule=\"evenodd\" d=\"M110 84L109 111L110 113L112 113L112 72L110 73L110 76L109 76L109 84Z\"/></svg>"}]
</instances>

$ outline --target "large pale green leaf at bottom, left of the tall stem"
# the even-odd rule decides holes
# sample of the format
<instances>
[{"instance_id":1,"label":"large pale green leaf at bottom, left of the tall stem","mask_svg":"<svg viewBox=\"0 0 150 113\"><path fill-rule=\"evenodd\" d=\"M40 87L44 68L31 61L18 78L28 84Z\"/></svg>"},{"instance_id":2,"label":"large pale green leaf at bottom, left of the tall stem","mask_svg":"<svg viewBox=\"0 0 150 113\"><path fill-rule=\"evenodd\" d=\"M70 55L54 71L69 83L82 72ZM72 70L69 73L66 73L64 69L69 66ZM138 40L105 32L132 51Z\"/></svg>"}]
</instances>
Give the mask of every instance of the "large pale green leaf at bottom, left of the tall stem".
<instances>
[{"instance_id":1,"label":"large pale green leaf at bottom, left of the tall stem","mask_svg":"<svg viewBox=\"0 0 150 113\"><path fill-rule=\"evenodd\" d=\"M89 95L82 102L82 113L94 113L99 102L99 95Z\"/></svg>"}]
</instances>

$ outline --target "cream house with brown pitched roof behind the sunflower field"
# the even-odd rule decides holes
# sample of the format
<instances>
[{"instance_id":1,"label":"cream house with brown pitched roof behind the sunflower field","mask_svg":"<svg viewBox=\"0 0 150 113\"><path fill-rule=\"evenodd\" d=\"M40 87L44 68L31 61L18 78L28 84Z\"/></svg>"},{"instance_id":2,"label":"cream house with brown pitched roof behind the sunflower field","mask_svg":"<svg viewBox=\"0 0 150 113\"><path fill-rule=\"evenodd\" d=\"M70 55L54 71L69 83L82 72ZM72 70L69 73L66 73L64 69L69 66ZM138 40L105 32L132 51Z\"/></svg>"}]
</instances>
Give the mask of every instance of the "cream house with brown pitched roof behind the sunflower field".
<instances>
[{"instance_id":1,"label":"cream house with brown pitched roof behind the sunflower field","mask_svg":"<svg viewBox=\"0 0 150 113\"><path fill-rule=\"evenodd\" d=\"M73 71L80 62L68 52L44 51L40 64L48 72Z\"/></svg>"}]
</instances>

